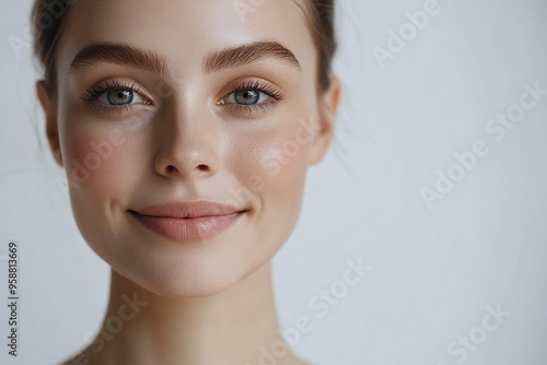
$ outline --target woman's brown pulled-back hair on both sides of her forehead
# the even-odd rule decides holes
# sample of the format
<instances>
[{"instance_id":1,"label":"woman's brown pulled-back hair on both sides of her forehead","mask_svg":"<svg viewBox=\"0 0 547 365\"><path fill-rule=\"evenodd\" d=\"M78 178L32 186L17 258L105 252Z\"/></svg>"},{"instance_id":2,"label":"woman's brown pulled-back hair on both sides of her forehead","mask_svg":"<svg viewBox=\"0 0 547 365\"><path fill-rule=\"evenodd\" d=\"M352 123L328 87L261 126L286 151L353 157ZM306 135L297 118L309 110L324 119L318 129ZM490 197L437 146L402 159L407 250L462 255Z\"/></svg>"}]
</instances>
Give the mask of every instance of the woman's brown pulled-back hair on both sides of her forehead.
<instances>
[{"instance_id":1,"label":"woman's brown pulled-back hair on both sides of her forehead","mask_svg":"<svg viewBox=\"0 0 547 365\"><path fill-rule=\"evenodd\" d=\"M78 0L36 0L31 12L33 52L44 69L44 82L51 96L57 91L56 56L71 3ZM303 12L317 49L317 86L329 86L331 60L336 51L334 0L305 0Z\"/></svg>"}]
</instances>

